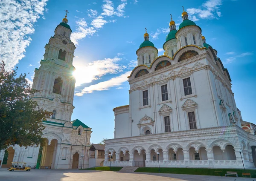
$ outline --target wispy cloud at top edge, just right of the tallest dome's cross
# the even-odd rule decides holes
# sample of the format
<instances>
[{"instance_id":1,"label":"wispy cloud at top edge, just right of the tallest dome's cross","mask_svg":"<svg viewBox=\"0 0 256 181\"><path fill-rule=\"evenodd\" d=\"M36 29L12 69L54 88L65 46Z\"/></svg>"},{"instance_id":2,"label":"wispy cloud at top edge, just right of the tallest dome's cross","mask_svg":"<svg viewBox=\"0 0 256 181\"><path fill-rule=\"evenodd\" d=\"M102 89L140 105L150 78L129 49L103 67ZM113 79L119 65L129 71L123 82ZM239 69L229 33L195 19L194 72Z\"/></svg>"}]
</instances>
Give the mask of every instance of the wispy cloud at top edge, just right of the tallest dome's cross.
<instances>
[{"instance_id":1,"label":"wispy cloud at top edge, just right of the tallest dome's cross","mask_svg":"<svg viewBox=\"0 0 256 181\"><path fill-rule=\"evenodd\" d=\"M192 20L198 20L197 17L202 19L217 18L221 16L219 6L221 6L222 0L207 0L202 4L201 8L189 8L186 11L192 16ZM216 16L217 15L217 16Z\"/></svg>"}]
</instances>

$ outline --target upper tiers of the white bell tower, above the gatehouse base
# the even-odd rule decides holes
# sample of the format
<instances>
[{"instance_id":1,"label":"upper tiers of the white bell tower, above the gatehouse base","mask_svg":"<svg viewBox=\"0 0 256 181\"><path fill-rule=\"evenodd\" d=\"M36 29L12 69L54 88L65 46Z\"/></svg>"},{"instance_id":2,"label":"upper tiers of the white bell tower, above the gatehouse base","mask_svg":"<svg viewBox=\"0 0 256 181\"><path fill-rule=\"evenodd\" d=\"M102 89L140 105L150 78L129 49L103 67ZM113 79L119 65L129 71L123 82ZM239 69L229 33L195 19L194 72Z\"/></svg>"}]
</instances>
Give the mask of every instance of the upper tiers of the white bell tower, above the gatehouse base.
<instances>
[{"instance_id":1,"label":"upper tiers of the white bell tower, above the gatehouse base","mask_svg":"<svg viewBox=\"0 0 256 181\"><path fill-rule=\"evenodd\" d=\"M44 60L39 69L35 69L32 89L38 90L31 99L40 107L53 112L49 121L64 124L71 120L76 80L73 77L74 50L76 46L70 40L72 30L67 24L67 13L55 28L54 35L46 44Z\"/></svg>"}]
</instances>

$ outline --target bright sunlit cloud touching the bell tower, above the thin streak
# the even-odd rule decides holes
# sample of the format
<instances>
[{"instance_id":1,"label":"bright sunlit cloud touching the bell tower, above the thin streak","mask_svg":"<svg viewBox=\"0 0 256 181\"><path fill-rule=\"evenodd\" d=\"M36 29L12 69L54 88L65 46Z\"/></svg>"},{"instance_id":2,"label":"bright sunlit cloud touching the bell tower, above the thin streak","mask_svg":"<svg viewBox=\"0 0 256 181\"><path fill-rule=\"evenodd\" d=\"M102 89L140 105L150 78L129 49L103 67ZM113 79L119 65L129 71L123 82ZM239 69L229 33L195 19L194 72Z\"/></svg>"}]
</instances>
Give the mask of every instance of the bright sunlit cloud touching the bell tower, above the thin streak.
<instances>
[{"instance_id":1,"label":"bright sunlit cloud touching the bell tower, above the thin streak","mask_svg":"<svg viewBox=\"0 0 256 181\"><path fill-rule=\"evenodd\" d=\"M76 71L74 76L76 78L76 86L82 83L90 83L93 80L98 80L106 74L117 74L123 71L123 66L117 64L119 57L105 58L104 60L96 60L91 63L81 64L77 61L74 62Z\"/></svg>"}]
</instances>

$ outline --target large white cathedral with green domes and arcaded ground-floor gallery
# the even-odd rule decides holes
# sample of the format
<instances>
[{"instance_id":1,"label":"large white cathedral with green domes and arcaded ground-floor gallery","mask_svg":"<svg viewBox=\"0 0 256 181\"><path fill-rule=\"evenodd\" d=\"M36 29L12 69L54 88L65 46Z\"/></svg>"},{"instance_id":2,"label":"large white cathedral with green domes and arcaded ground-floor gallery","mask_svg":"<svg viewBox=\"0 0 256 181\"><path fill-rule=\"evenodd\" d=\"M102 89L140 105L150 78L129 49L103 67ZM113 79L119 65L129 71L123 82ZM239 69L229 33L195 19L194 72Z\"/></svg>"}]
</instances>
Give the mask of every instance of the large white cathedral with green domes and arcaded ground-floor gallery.
<instances>
[{"instance_id":1,"label":"large white cathedral with green domes and arcaded ground-floor gallery","mask_svg":"<svg viewBox=\"0 0 256 181\"><path fill-rule=\"evenodd\" d=\"M105 166L255 167L255 125L242 121L217 51L184 9L182 19L178 30L169 23L162 56L144 34L129 105L113 109Z\"/></svg>"}]
</instances>

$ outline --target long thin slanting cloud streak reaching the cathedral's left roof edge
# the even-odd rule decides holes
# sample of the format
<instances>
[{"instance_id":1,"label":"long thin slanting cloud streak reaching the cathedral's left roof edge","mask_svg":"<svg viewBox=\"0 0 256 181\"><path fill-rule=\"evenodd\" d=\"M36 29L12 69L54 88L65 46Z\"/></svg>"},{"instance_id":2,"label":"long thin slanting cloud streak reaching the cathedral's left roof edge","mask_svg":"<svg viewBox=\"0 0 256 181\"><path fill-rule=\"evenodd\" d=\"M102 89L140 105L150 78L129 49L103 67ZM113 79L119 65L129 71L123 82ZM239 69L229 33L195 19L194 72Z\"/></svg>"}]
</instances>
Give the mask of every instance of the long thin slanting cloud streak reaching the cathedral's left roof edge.
<instances>
[{"instance_id":1,"label":"long thin slanting cloud streak reaching the cathedral's left roof edge","mask_svg":"<svg viewBox=\"0 0 256 181\"><path fill-rule=\"evenodd\" d=\"M131 71L125 72L124 74L111 78L110 80L103 81L94 85L91 85L89 87L85 87L84 89L80 90L80 92L76 92L75 95L82 96L87 93L92 93L93 91L103 91L103 90L109 90L111 87L120 86L122 83L126 82L128 80L128 76L131 74Z\"/></svg>"}]
</instances>

